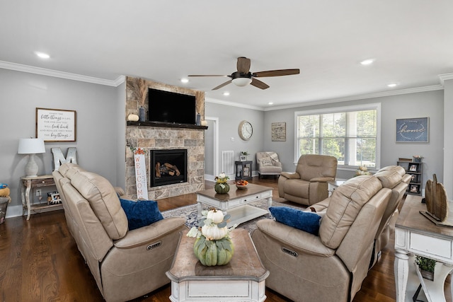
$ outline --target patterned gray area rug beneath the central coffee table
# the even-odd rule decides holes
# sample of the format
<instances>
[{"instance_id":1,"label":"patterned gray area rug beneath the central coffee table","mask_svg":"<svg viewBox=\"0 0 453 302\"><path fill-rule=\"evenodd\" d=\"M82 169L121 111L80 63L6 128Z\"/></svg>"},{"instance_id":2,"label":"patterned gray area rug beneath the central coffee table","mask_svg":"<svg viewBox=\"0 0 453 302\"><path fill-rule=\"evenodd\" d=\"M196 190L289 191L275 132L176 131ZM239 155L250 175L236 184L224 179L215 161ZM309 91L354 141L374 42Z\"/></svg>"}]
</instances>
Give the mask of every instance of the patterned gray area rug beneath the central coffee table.
<instances>
[{"instance_id":1,"label":"patterned gray area rug beneath the central coffee table","mask_svg":"<svg viewBox=\"0 0 453 302\"><path fill-rule=\"evenodd\" d=\"M260 200L258 202L251 202L251 206L253 207L258 207L260 209L268 209L268 201L267 200ZM282 204L280 202L273 202L272 203L273 207L292 207L291 205L288 204ZM210 206L205 206L203 209L209 209ZM303 207L293 207L297 209L303 209ZM172 209L168 211L163 211L162 216L164 218L168 217L182 217L185 218L185 225L188 226L189 228L192 228L193 226L198 226L198 220L197 220L197 204L190 204L190 206L185 206L185 207L179 207L177 209ZM256 221L259 221L261 219L273 219L273 216L271 216L269 213L265 214L263 216L259 216L256 219L252 219L251 221L246 221L244 223L239 224L238 228L245 228L248 230L249 233L251 233L253 230L256 229Z\"/></svg>"}]
</instances>

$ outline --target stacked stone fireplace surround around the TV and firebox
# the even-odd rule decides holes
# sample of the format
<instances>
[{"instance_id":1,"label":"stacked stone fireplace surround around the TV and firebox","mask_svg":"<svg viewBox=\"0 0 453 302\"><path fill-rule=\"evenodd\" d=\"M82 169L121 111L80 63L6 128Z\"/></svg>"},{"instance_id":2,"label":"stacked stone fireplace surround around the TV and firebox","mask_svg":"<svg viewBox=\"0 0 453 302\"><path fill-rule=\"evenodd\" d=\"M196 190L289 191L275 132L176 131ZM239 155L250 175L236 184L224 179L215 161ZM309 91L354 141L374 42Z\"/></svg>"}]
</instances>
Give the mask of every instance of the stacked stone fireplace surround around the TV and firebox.
<instances>
[{"instance_id":1,"label":"stacked stone fireplace surround around the TV and firebox","mask_svg":"<svg viewBox=\"0 0 453 302\"><path fill-rule=\"evenodd\" d=\"M134 89L137 88L137 81L142 81L147 87L157 88L165 91L195 95L197 112L200 112L202 119L205 115L205 93L193 91L188 88L168 86L161 83L144 81L127 77L126 91L126 117L127 115L138 114L138 108L143 105L148 111L148 101L140 102L140 94ZM152 110L152 108L151 108ZM189 194L204 190L205 188L205 130L171 127L126 127L126 187L127 195L136 198L137 187L135 183L134 153L132 149L144 149L145 163L147 164L148 199L162 199L182 194ZM162 185L149 187L149 151L154 149L187 149L188 167L187 182L173 185Z\"/></svg>"}]
</instances>

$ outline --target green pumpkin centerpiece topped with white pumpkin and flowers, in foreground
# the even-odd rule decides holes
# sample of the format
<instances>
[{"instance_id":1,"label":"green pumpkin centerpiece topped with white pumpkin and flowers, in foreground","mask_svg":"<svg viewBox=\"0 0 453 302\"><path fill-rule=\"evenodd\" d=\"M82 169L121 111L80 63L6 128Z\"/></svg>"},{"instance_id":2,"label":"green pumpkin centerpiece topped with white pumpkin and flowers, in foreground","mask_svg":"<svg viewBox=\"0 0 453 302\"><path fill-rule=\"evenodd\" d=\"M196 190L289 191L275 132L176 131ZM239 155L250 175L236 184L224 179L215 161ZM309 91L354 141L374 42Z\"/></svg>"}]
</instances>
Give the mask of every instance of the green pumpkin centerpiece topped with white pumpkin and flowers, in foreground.
<instances>
[{"instance_id":1,"label":"green pumpkin centerpiece topped with white pumpkin and flowers, in foreground","mask_svg":"<svg viewBox=\"0 0 453 302\"><path fill-rule=\"evenodd\" d=\"M217 209L202 211L200 226L198 228L194 226L187 233L187 236L197 238L193 245L193 252L202 265L208 267L226 265L233 257L234 246L229 233L237 225L227 228L226 221L229 218L229 214L224 215Z\"/></svg>"}]
</instances>

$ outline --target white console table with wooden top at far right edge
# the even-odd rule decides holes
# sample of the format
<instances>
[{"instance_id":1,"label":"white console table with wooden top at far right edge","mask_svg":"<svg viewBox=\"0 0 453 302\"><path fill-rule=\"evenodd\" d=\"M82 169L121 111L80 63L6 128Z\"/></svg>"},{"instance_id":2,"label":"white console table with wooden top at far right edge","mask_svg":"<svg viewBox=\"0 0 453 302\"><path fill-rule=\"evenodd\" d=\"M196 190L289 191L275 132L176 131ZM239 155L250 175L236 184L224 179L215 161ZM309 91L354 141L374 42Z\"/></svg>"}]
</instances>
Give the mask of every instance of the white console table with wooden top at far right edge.
<instances>
[{"instance_id":1,"label":"white console table with wooden top at far right edge","mask_svg":"<svg viewBox=\"0 0 453 302\"><path fill-rule=\"evenodd\" d=\"M428 301L445 302L445 278L453 269L453 228L436 226L420 211L426 211L422 197L408 195L395 224L396 301L412 301L418 284L423 286ZM453 204L450 202L449 208ZM452 212L449 219L453 219ZM437 261L435 279L429 281L416 272L414 255Z\"/></svg>"}]
</instances>

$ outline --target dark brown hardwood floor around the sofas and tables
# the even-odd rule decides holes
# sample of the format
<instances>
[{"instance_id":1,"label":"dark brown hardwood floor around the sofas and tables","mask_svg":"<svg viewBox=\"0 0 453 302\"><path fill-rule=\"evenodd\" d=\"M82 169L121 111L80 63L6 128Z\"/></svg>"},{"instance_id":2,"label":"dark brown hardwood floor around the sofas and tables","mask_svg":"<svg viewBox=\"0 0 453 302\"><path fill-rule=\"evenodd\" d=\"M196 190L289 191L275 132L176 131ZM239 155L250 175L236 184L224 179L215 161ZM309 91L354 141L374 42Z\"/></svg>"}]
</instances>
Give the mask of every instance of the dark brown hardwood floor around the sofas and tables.
<instances>
[{"instance_id":1,"label":"dark brown hardwood floor around the sofas and tables","mask_svg":"<svg viewBox=\"0 0 453 302\"><path fill-rule=\"evenodd\" d=\"M253 178L253 183L273 187L278 197L277 179ZM206 187L213 184L207 182ZM166 211L195 204L195 193L158 200L159 209ZM384 248L382 257L369 271L354 302L395 301L394 236ZM449 284L446 284L449 286ZM62 210L6 219L0 224L0 294L1 301L103 301L88 266L77 250L67 229ZM168 284L134 301L169 301ZM450 301L449 289L446 290ZM270 302L289 301L266 290Z\"/></svg>"}]
</instances>

